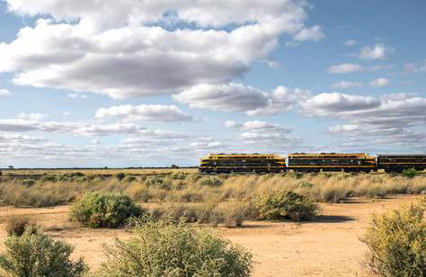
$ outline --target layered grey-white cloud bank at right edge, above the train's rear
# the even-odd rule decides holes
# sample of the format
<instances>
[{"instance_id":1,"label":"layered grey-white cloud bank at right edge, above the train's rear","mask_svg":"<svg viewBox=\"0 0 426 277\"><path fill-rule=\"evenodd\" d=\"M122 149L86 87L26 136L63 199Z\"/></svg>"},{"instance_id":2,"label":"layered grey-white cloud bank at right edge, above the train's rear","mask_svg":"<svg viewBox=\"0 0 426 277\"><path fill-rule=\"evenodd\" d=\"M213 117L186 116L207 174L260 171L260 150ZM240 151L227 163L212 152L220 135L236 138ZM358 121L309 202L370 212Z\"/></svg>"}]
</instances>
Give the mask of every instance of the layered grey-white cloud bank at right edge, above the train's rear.
<instances>
[{"instance_id":1,"label":"layered grey-white cloud bank at right edge, above the train's rear","mask_svg":"<svg viewBox=\"0 0 426 277\"><path fill-rule=\"evenodd\" d=\"M318 94L302 107L306 115L347 121L331 127L329 132L332 134L360 139L374 137L370 143L381 141L414 146L426 138L426 134L410 130L426 124L426 98L417 94L387 94L380 98Z\"/></svg>"}]
</instances>

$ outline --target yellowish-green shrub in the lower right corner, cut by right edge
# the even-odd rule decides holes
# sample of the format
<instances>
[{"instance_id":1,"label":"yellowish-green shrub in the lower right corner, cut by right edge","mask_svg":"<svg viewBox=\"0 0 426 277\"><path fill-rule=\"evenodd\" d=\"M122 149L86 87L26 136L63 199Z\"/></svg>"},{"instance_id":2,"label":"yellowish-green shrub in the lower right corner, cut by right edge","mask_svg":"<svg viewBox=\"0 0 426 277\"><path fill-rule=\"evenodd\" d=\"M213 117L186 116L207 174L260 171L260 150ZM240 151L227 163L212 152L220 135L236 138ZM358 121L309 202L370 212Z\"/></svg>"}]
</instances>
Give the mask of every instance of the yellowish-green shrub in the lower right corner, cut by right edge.
<instances>
[{"instance_id":1,"label":"yellowish-green shrub in the lower right corner, cut by right edge","mask_svg":"<svg viewBox=\"0 0 426 277\"><path fill-rule=\"evenodd\" d=\"M365 237L365 265L380 276L426 276L424 206L407 204L374 215Z\"/></svg>"}]
</instances>

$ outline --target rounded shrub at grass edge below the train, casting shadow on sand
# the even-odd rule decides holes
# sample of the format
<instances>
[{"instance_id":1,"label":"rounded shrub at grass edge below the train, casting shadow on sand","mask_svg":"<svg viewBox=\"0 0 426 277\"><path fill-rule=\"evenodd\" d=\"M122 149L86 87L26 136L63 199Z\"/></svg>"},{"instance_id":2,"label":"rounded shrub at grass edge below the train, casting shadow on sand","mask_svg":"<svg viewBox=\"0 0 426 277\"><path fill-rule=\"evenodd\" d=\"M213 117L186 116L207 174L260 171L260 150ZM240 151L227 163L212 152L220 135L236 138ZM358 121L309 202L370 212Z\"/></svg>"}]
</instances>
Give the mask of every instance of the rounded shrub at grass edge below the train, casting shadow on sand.
<instances>
[{"instance_id":1,"label":"rounded shrub at grass edge below the train, casting shadow on sand","mask_svg":"<svg viewBox=\"0 0 426 277\"><path fill-rule=\"evenodd\" d=\"M310 220L316 215L317 206L306 196L286 190L262 194L256 202L260 219Z\"/></svg>"}]
</instances>

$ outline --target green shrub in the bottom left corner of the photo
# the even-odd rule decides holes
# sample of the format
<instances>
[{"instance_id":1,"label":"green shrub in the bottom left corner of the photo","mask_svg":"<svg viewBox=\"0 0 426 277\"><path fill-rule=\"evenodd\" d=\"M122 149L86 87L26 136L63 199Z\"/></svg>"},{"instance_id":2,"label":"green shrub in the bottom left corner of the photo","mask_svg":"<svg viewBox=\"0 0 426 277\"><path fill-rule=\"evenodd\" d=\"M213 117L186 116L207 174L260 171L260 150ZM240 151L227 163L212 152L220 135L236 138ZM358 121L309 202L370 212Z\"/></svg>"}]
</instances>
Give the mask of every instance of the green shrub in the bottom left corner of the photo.
<instances>
[{"instance_id":1,"label":"green shrub in the bottom left corner of the photo","mask_svg":"<svg viewBox=\"0 0 426 277\"><path fill-rule=\"evenodd\" d=\"M4 244L0 267L9 276L72 277L87 271L81 258L71 261L72 246L40 233L25 231L21 237L7 237Z\"/></svg>"}]
</instances>

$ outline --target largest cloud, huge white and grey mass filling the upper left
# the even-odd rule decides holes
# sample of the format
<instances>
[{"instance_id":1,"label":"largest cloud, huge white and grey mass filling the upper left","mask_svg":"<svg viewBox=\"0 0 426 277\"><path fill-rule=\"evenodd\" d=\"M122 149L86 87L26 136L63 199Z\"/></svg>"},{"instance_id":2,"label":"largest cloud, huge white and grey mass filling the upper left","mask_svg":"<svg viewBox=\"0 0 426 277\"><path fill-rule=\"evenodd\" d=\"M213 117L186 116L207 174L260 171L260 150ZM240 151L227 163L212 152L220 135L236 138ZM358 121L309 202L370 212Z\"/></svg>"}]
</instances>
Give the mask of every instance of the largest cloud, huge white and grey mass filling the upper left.
<instances>
[{"instance_id":1,"label":"largest cloud, huge white and grey mass filling the upper left","mask_svg":"<svg viewBox=\"0 0 426 277\"><path fill-rule=\"evenodd\" d=\"M0 72L14 72L16 85L115 98L226 83L268 58L283 34L324 36L320 26L305 25L304 1L7 3L14 13L53 19L45 16L0 43Z\"/></svg>"}]
</instances>

